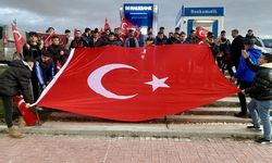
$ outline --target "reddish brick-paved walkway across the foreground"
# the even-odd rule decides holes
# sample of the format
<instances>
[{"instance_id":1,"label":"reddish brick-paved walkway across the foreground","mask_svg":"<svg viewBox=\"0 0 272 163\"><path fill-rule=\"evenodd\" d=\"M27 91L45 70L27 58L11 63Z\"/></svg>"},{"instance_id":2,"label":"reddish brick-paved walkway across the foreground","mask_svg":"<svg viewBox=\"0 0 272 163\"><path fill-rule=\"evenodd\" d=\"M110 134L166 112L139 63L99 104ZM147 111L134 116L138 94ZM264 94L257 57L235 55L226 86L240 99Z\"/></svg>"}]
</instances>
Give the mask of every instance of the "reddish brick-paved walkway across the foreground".
<instances>
[{"instance_id":1,"label":"reddish brick-paved walkway across the foreground","mask_svg":"<svg viewBox=\"0 0 272 163\"><path fill-rule=\"evenodd\" d=\"M245 163L272 161L272 146L251 140L89 138L0 135L1 163Z\"/></svg>"}]
</instances>

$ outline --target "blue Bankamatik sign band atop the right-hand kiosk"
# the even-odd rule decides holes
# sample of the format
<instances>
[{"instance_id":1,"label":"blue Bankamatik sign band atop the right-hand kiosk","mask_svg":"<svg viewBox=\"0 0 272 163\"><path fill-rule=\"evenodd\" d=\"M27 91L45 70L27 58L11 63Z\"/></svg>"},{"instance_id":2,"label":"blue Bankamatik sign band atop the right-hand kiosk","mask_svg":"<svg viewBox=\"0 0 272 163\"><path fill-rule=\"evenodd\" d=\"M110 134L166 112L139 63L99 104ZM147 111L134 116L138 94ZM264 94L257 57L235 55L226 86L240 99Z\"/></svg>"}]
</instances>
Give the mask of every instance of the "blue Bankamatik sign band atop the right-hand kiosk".
<instances>
[{"instance_id":1,"label":"blue Bankamatik sign band atop the right-hand kiosk","mask_svg":"<svg viewBox=\"0 0 272 163\"><path fill-rule=\"evenodd\" d=\"M183 16L224 16L224 8L184 8Z\"/></svg>"}]
</instances>

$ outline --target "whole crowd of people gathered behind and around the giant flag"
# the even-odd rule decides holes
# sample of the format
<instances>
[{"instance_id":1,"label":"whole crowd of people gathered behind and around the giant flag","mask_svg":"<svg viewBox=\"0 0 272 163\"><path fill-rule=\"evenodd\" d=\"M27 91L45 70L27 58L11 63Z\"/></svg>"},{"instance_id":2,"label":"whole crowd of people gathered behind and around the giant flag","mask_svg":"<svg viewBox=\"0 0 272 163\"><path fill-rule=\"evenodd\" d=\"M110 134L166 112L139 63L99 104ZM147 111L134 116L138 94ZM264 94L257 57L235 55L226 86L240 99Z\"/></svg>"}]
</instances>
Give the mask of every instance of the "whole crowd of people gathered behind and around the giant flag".
<instances>
[{"instance_id":1,"label":"whole crowd of people gathered behind and around the giant flag","mask_svg":"<svg viewBox=\"0 0 272 163\"><path fill-rule=\"evenodd\" d=\"M51 34L53 30L53 27L49 27L47 33ZM51 38L51 45L45 47L37 33L29 33L29 40L23 47L23 57L25 61L12 62L11 67L16 68L10 68L10 71L7 71L0 77L0 90L3 90L0 95L5 97L3 100L5 101L4 108L7 111L11 108L11 98L8 98L7 100L7 97L16 95L17 90L9 92L4 89L4 86L14 87L14 89L22 89L25 101L27 102L27 105L29 105L29 103L38 99L40 92L47 87L55 73L66 62L72 48L96 48L108 45L137 48L173 43L203 43L210 47L212 55L222 73L225 74L227 71L231 76L230 79L232 82L235 80L236 85L243 90L238 93L240 112L236 113L235 116L247 118L250 115L254 121L254 126L248 126L248 128L259 130L259 114L264 126L264 135L263 138L258 141L262 143L271 140L269 110L272 105L272 68L270 67L272 54L262 53L261 50L256 48L257 38L255 37L252 29L248 29L245 37L239 35L238 29L233 29L232 42L226 38L225 30L222 30L218 38L209 32L207 38L200 40L197 37L195 29L190 30L186 36L186 33L181 32L178 27L174 29L174 33L169 33L168 36L165 35L164 27L160 27L156 37L153 36L152 28L148 28L147 36L144 36L140 33L136 35L133 29L129 29L127 35L124 36L119 28L114 28L113 32L110 29L99 32L98 28L91 30L89 27L86 27L83 34L78 29L75 30L73 39L71 37L71 30L66 29L64 34L66 36L64 45L60 43L60 37L55 35ZM25 67L26 65L28 68ZM33 71L28 71L32 70L32 67ZM233 71L234 67L235 73ZM18 72L22 73L12 75ZM29 73L32 73L32 75L29 75ZM13 76L12 79L22 80L24 84L13 84L12 82L4 79L9 75ZM27 79L30 79L30 83L27 83ZM34 95L33 99L29 98L30 90L28 90L27 84L32 84ZM248 108L246 103L246 93L249 93L252 98ZM5 112L8 127L13 128L11 129L10 135L12 137L21 137L22 134L13 127L11 115L12 112Z\"/></svg>"}]
</instances>

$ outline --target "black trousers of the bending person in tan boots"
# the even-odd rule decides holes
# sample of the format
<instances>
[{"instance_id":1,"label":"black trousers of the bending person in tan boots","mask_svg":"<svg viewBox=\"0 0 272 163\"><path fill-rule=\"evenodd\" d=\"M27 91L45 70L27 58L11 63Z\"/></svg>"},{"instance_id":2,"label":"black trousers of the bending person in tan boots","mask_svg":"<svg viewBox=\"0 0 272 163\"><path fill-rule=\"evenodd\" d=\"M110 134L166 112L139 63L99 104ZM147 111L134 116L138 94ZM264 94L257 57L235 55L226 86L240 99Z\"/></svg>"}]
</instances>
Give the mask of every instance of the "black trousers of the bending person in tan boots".
<instances>
[{"instance_id":1,"label":"black trousers of the bending person in tan boots","mask_svg":"<svg viewBox=\"0 0 272 163\"><path fill-rule=\"evenodd\" d=\"M2 96L3 100L3 108L4 108L4 120L8 125L8 127L12 127L12 115L13 115L13 98Z\"/></svg>"}]
</instances>

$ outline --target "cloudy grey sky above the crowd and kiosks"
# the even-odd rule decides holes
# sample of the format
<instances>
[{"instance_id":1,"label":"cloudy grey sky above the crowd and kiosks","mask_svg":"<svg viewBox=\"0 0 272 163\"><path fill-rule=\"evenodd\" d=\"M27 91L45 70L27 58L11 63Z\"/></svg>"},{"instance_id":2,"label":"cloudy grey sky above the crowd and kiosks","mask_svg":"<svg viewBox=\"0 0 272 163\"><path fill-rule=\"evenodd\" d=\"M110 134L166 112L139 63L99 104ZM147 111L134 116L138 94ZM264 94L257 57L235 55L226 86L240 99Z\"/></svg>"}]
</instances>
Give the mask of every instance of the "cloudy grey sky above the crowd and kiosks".
<instances>
[{"instance_id":1,"label":"cloudy grey sky above the crowd and kiosks","mask_svg":"<svg viewBox=\"0 0 272 163\"><path fill-rule=\"evenodd\" d=\"M49 26L62 34L64 29L102 27L104 18L111 27L120 26L123 3L154 3L159 8L159 24L166 32L175 27L175 17L186 7L224 7L224 29L245 35L252 28L257 36L272 36L271 0L0 0L0 24L14 18L25 30L46 32Z\"/></svg>"}]
</instances>

